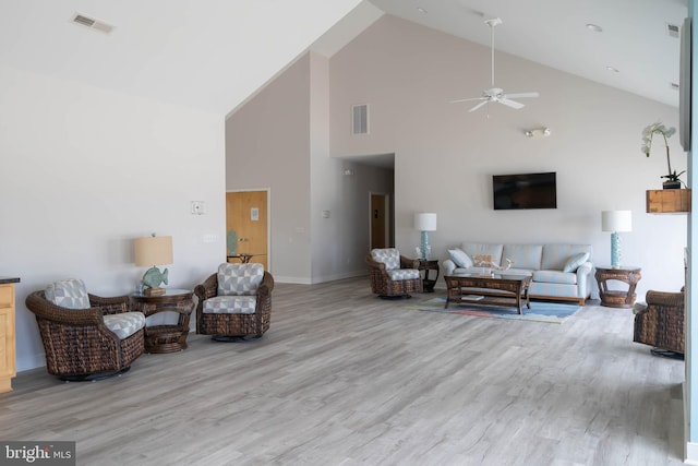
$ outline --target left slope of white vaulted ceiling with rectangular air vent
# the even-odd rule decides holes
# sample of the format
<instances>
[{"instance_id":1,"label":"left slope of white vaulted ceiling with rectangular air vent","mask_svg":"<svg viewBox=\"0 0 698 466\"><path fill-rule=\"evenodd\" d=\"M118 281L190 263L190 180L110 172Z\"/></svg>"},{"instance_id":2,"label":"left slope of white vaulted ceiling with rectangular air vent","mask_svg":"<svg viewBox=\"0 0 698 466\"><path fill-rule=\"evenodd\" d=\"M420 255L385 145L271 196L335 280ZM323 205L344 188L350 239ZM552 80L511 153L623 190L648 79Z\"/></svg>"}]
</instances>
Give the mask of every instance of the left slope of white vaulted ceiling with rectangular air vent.
<instances>
[{"instance_id":1,"label":"left slope of white vaulted ceiling with rectangular air vent","mask_svg":"<svg viewBox=\"0 0 698 466\"><path fill-rule=\"evenodd\" d=\"M0 0L0 65L227 115L360 2Z\"/></svg>"}]
</instances>

